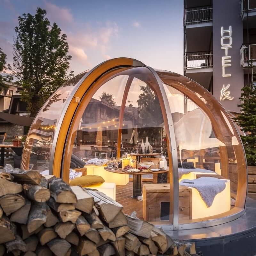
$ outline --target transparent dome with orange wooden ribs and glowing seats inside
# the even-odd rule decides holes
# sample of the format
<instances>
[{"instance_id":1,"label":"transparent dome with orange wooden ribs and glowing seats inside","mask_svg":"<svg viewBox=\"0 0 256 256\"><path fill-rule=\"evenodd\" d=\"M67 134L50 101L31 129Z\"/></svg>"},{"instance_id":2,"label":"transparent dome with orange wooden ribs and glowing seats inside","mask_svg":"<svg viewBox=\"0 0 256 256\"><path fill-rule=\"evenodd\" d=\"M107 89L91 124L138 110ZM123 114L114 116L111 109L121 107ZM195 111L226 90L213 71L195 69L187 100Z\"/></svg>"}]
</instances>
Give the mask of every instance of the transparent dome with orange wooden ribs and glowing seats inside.
<instances>
[{"instance_id":1,"label":"transparent dome with orange wooden ribs and glowing seats inside","mask_svg":"<svg viewBox=\"0 0 256 256\"><path fill-rule=\"evenodd\" d=\"M112 162L150 167L128 173ZM168 230L244 213L246 159L226 110L187 77L129 58L105 61L52 94L30 127L22 168L66 182L70 169L87 168L105 180L93 188L110 191L125 213Z\"/></svg>"}]
</instances>

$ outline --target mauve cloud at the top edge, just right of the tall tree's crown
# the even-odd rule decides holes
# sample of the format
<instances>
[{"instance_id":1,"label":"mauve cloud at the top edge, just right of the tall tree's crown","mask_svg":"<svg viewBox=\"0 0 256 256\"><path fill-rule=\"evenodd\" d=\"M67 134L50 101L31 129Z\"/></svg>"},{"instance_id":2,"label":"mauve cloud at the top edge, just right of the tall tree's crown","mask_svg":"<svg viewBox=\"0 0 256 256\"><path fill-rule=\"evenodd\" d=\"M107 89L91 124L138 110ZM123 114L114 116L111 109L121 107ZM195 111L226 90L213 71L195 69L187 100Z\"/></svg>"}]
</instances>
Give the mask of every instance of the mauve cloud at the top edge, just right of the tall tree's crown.
<instances>
[{"instance_id":1,"label":"mauve cloud at the top edge, just right of the tall tree's crown","mask_svg":"<svg viewBox=\"0 0 256 256\"><path fill-rule=\"evenodd\" d=\"M61 8L50 2L44 2L47 16L51 22L63 22L63 23L73 23L74 19L70 12L70 9Z\"/></svg>"}]
</instances>

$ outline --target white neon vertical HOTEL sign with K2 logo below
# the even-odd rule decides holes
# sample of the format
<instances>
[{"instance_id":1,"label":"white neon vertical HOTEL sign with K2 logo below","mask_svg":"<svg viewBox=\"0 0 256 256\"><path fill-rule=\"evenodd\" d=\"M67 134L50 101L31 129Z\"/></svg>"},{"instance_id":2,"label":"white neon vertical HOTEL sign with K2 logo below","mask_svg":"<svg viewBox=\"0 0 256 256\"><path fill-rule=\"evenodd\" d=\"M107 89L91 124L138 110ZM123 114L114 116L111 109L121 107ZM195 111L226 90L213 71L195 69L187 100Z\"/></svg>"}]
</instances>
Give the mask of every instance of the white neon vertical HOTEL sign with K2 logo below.
<instances>
[{"instance_id":1,"label":"white neon vertical HOTEL sign with K2 logo below","mask_svg":"<svg viewBox=\"0 0 256 256\"><path fill-rule=\"evenodd\" d=\"M222 77L229 77L231 74L228 74L226 70L227 67L231 67L231 56L228 56L228 50L232 48L232 27L229 26L229 29L224 30L221 27L221 49L225 51L225 56L222 56L221 64L222 64ZM234 97L230 96L230 91L227 91L230 87L230 84L223 84L223 87L220 91L220 101L221 100L233 100Z\"/></svg>"}]
</instances>

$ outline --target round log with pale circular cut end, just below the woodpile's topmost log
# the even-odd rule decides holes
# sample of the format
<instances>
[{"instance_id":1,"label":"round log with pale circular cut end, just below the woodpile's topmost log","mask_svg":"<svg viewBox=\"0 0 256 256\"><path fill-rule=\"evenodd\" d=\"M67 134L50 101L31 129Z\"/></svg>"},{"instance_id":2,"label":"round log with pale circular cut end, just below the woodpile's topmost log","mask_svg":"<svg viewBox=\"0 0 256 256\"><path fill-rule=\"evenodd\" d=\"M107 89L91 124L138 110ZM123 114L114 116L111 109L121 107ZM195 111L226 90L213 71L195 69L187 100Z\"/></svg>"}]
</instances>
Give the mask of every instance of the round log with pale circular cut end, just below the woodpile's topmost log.
<instances>
[{"instance_id":1,"label":"round log with pale circular cut end, just below the woodpile's topmost log","mask_svg":"<svg viewBox=\"0 0 256 256\"><path fill-rule=\"evenodd\" d=\"M23 184L24 194L31 201L44 203L50 198L50 190L40 185Z\"/></svg>"}]
</instances>

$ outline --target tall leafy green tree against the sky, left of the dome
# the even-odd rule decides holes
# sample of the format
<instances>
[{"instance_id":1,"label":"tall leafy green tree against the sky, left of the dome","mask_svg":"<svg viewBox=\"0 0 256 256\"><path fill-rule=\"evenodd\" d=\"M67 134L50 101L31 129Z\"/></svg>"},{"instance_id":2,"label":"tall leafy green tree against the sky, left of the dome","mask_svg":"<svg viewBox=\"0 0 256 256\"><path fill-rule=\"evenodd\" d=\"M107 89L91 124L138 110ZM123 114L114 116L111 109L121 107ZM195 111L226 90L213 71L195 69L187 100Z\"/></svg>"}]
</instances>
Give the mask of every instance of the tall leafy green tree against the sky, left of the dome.
<instances>
[{"instance_id":1,"label":"tall leafy green tree against the sky, left of the dome","mask_svg":"<svg viewBox=\"0 0 256 256\"><path fill-rule=\"evenodd\" d=\"M12 72L24 90L21 100L35 116L44 101L73 76L68 73L66 35L56 23L51 26L46 10L37 8L35 16L24 13L15 27Z\"/></svg>"}]
</instances>

